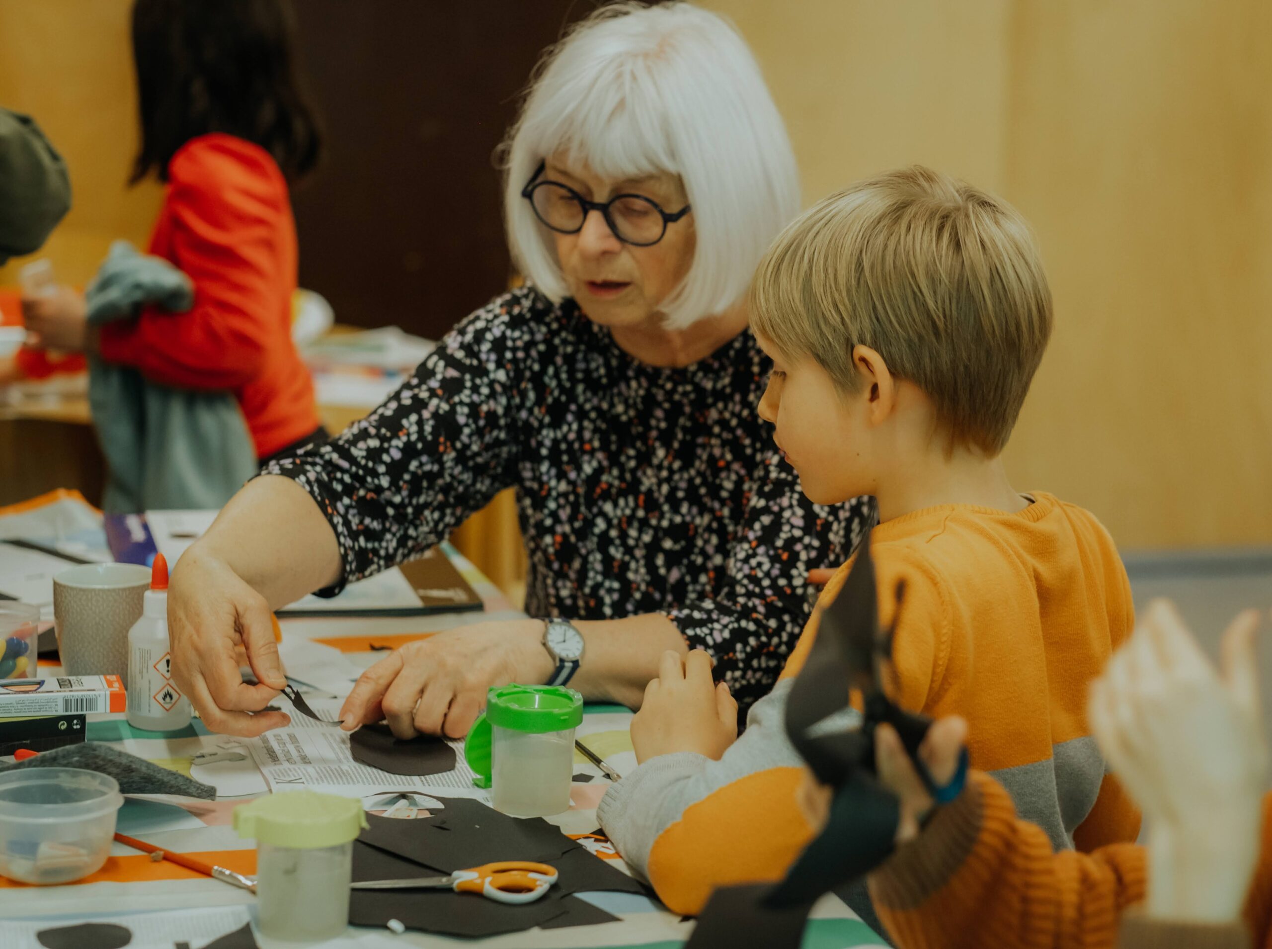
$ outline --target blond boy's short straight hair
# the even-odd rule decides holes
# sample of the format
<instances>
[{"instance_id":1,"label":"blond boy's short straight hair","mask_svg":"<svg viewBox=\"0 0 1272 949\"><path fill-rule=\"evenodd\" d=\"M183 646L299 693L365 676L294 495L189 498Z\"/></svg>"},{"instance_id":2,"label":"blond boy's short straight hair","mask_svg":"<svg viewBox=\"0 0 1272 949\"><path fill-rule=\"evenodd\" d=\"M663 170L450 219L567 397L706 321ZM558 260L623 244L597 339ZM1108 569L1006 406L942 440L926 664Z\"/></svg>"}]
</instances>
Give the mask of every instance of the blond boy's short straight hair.
<instances>
[{"instance_id":1,"label":"blond boy's short straight hair","mask_svg":"<svg viewBox=\"0 0 1272 949\"><path fill-rule=\"evenodd\" d=\"M750 285L750 326L784 356L812 356L854 392L852 347L869 346L932 399L953 443L990 455L1007 444L1051 323L1024 219L921 165L819 201Z\"/></svg>"}]
</instances>

